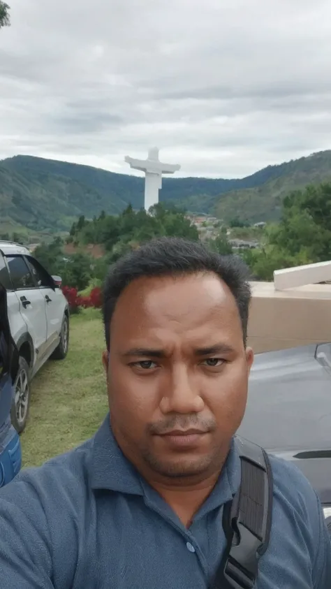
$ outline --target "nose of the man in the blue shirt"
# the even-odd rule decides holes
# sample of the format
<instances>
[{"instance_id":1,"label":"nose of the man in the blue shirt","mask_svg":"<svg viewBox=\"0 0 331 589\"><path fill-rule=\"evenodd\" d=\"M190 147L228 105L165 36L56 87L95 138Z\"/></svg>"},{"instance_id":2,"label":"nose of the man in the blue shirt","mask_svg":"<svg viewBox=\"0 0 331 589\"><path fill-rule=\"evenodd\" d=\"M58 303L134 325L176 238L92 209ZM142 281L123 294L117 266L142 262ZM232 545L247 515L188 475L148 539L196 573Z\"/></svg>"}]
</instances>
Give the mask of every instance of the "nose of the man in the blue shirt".
<instances>
[{"instance_id":1,"label":"nose of the man in the blue shirt","mask_svg":"<svg viewBox=\"0 0 331 589\"><path fill-rule=\"evenodd\" d=\"M160 409L165 413L198 413L204 407L203 398L194 375L186 366L176 366L172 370L167 390L164 391Z\"/></svg>"}]
</instances>

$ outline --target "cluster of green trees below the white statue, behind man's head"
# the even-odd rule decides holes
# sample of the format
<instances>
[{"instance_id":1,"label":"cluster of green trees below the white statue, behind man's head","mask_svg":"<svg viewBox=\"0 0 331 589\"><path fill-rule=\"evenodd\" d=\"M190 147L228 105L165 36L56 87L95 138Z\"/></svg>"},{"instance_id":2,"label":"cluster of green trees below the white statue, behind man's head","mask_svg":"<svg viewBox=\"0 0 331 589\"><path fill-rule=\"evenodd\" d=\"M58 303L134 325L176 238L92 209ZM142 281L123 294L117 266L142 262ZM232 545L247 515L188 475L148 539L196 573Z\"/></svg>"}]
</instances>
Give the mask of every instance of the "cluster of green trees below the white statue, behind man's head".
<instances>
[{"instance_id":1,"label":"cluster of green trees below the white statue, behind man's head","mask_svg":"<svg viewBox=\"0 0 331 589\"><path fill-rule=\"evenodd\" d=\"M165 208L158 204L147 213L144 209L135 212L131 205L117 217L105 214L88 221L81 217L71 227L67 241L79 245L82 252L64 253L63 242L54 240L50 245L36 249L37 259L53 275L62 278L62 284L82 291L94 280L103 282L108 266L127 252L152 238L171 235L198 240L198 230L186 219L182 210ZM105 256L91 259L84 253L84 245L102 245Z\"/></svg>"}]
</instances>

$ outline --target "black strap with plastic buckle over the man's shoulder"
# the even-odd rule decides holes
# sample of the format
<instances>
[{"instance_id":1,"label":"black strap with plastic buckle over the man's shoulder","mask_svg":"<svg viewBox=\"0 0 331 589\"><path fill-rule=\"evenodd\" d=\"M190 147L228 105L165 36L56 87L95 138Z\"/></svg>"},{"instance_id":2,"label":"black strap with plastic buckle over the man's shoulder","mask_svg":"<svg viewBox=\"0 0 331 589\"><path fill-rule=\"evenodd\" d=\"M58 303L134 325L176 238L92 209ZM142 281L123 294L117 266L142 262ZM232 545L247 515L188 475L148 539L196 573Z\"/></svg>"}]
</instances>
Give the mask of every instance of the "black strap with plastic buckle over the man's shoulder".
<instances>
[{"instance_id":1,"label":"black strap with plastic buckle over the man's shoulder","mask_svg":"<svg viewBox=\"0 0 331 589\"><path fill-rule=\"evenodd\" d=\"M267 550L272 524L272 470L267 453L246 439L235 439L242 478L233 501L223 509L227 548L212 589L252 589L258 561Z\"/></svg>"}]
</instances>

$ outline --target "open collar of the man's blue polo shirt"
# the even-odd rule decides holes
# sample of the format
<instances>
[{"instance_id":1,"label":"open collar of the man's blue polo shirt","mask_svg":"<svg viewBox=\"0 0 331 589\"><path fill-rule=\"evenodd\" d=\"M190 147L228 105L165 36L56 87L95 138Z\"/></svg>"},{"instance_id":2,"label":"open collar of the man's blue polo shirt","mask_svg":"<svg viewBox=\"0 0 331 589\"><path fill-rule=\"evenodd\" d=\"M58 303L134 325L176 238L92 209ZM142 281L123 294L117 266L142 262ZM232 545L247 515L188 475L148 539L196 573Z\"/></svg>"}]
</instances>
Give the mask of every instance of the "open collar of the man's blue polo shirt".
<instances>
[{"instance_id":1,"label":"open collar of the man's blue polo shirt","mask_svg":"<svg viewBox=\"0 0 331 589\"><path fill-rule=\"evenodd\" d=\"M109 414L93 438L90 472L91 488L94 490L108 489L119 493L144 495L145 484L140 482L140 474L119 448L110 427ZM219 480L205 504L207 511L230 501L239 484L240 456L233 440ZM201 510L204 510L204 506Z\"/></svg>"}]
</instances>

